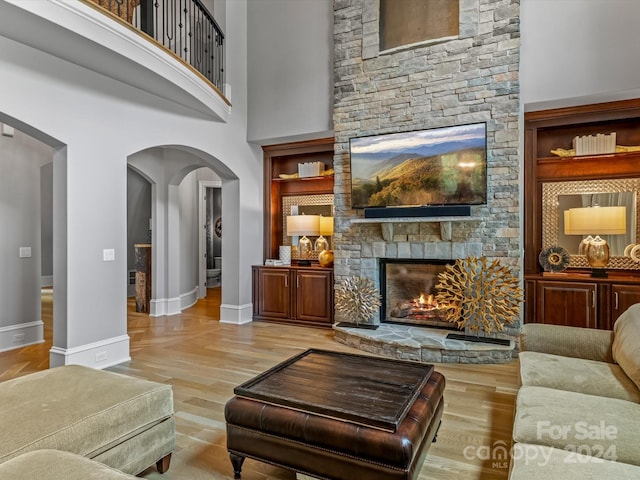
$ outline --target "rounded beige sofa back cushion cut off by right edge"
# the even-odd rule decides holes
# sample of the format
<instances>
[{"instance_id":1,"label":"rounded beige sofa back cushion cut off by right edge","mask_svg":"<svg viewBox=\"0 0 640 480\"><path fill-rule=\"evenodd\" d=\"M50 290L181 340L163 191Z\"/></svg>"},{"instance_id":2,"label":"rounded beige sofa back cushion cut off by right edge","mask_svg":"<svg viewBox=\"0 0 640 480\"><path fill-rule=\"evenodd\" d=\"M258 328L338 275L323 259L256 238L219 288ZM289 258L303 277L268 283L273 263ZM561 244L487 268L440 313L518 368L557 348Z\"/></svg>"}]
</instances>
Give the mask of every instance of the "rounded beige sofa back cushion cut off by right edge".
<instances>
[{"instance_id":1,"label":"rounded beige sofa back cushion cut off by right edge","mask_svg":"<svg viewBox=\"0 0 640 480\"><path fill-rule=\"evenodd\" d=\"M613 333L613 359L640 388L640 303L618 317Z\"/></svg>"}]
</instances>

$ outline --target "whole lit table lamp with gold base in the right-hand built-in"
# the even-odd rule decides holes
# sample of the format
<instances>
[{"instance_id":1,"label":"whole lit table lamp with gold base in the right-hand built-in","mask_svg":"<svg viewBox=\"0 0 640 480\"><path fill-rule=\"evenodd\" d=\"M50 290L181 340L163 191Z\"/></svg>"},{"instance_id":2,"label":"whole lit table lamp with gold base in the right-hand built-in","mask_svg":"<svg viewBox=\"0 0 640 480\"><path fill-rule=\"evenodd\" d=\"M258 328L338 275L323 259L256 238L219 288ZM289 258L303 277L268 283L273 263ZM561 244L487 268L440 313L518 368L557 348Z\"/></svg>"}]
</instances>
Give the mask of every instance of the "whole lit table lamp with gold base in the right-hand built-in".
<instances>
[{"instance_id":1,"label":"whole lit table lamp with gold base in the right-hand built-in","mask_svg":"<svg viewBox=\"0 0 640 480\"><path fill-rule=\"evenodd\" d=\"M607 277L605 267L609 263L609 245L600 235L624 235L627 233L626 207L570 208L564 212L565 235L590 235L585 241L585 255L591 266L592 277Z\"/></svg>"}]
</instances>

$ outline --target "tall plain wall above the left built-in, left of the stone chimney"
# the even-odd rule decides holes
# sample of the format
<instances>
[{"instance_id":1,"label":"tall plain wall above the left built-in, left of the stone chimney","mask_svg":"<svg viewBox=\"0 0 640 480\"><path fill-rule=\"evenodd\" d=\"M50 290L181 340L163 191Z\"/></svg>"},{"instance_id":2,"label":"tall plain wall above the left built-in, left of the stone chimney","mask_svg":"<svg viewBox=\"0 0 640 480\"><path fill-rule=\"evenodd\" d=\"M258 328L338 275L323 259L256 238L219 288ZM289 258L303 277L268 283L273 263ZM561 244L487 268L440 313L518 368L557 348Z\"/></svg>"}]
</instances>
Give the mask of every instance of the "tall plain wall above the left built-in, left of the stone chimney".
<instances>
[{"instance_id":1,"label":"tall plain wall above the left built-in, left of the stone chimney","mask_svg":"<svg viewBox=\"0 0 640 480\"><path fill-rule=\"evenodd\" d=\"M248 140L332 136L333 2L253 0L248 16Z\"/></svg>"}]
</instances>

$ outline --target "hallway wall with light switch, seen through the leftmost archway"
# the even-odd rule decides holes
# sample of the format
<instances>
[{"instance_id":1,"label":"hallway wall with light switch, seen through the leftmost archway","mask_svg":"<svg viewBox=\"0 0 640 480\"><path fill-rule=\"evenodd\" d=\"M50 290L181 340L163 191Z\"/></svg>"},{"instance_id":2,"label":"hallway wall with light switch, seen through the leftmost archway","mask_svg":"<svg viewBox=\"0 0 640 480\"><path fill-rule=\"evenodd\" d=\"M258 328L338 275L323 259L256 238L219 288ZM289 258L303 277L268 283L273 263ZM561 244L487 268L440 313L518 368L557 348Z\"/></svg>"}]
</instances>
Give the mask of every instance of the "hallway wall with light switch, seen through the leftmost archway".
<instances>
[{"instance_id":1,"label":"hallway wall with light switch, seen through the leftmost archway","mask_svg":"<svg viewBox=\"0 0 640 480\"><path fill-rule=\"evenodd\" d=\"M42 341L40 169L52 155L18 130L0 136L0 351Z\"/></svg>"}]
</instances>

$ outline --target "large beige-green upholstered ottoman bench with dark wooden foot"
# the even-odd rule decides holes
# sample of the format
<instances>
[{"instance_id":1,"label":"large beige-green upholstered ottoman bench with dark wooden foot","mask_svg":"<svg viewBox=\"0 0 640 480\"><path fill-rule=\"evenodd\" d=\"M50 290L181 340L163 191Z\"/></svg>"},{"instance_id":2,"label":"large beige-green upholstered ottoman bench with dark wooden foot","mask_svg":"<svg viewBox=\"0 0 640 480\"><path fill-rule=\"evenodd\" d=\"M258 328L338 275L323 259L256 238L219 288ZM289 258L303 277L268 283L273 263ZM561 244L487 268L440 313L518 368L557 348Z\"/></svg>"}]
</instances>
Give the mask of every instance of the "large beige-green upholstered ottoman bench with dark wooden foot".
<instances>
[{"instance_id":1,"label":"large beige-green upholstered ottoman bench with dark wooden foot","mask_svg":"<svg viewBox=\"0 0 640 480\"><path fill-rule=\"evenodd\" d=\"M0 464L54 449L130 474L169 468L171 385L67 365L0 383L0 405Z\"/></svg>"}]
</instances>

